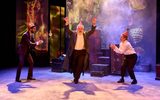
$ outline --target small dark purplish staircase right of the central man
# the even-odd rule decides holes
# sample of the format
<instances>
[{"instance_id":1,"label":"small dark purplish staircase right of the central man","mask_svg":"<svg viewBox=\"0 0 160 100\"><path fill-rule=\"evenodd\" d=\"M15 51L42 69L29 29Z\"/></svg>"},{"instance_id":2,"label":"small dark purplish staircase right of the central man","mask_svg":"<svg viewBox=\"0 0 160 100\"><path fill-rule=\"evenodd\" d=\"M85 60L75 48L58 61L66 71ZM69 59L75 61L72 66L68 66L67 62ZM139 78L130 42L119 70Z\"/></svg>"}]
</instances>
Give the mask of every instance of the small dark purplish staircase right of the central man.
<instances>
[{"instance_id":1,"label":"small dark purplish staircase right of the central man","mask_svg":"<svg viewBox=\"0 0 160 100\"><path fill-rule=\"evenodd\" d=\"M97 62L91 64L91 76L103 77L111 73L110 49L101 48L97 53Z\"/></svg>"}]
</instances>

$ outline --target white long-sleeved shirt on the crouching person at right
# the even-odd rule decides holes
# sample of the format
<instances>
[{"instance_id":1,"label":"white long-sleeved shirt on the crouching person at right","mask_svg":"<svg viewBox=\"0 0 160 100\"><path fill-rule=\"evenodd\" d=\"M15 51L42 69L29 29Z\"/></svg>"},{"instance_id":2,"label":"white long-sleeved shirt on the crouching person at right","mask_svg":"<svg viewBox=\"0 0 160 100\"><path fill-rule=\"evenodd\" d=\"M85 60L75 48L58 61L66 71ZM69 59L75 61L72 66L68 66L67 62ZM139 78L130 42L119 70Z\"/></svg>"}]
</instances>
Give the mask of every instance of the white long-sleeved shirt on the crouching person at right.
<instances>
[{"instance_id":1,"label":"white long-sleeved shirt on the crouching person at right","mask_svg":"<svg viewBox=\"0 0 160 100\"><path fill-rule=\"evenodd\" d=\"M119 45L119 48L116 47L114 49L116 53L124 54L124 55L130 55L130 54L135 54L136 51L132 47L132 45L126 40L124 42L121 42Z\"/></svg>"}]
</instances>

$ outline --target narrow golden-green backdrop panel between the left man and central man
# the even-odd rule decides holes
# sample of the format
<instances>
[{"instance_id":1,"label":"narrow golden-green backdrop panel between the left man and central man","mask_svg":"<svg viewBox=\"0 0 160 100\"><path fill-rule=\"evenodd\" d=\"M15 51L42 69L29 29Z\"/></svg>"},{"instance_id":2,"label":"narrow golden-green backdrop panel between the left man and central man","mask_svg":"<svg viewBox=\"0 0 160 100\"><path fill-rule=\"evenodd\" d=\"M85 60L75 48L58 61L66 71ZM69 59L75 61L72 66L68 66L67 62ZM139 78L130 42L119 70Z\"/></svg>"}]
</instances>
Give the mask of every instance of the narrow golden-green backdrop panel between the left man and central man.
<instances>
[{"instance_id":1,"label":"narrow golden-green backdrop panel between the left man and central man","mask_svg":"<svg viewBox=\"0 0 160 100\"><path fill-rule=\"evenodd\" d=\"M65 7L50 5L50 61L65 52L64 16Z\"/></svg>"}]
</instances>

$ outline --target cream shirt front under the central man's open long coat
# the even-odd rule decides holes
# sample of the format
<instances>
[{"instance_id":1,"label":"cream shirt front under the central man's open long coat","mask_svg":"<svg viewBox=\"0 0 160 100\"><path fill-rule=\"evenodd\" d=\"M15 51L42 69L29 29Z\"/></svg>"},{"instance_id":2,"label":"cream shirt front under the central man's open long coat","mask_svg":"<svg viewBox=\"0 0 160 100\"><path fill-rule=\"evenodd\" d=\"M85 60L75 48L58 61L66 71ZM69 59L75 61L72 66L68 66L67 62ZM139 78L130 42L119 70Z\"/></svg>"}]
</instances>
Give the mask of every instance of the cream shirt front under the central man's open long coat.
<instances>
[{"instance_id":1,"label":"cream shirt front under the central man's open long coat","mask_svg":"<svg viewBox=\"0 0 160 100\"><path fill-rule=\"evenodd\" d=\"M76 45L75 45L75 50L82 50L84 49L84 38L83 34L77 34L77 40L76 40Z\"/></svg>"}]
</instances>

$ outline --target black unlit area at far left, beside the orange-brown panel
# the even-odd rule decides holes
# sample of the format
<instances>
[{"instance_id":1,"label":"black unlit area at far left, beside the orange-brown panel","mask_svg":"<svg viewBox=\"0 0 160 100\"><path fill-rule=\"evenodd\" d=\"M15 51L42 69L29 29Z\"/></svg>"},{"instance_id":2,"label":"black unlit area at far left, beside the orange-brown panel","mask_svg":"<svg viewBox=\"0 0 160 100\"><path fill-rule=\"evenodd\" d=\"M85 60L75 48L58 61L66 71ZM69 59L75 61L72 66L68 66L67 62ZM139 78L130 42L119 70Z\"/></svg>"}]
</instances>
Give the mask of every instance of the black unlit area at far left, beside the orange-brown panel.
<instances>
[{"instance_id":1,"label":"black unlit area at far left, beside the orange-brown panel","mask_svg":"<svg viewBox=\"0 0 160 100\"><path fill-rule=\"evenodd\" d=\"M2 7L3 5L3 7ZM4 1L1 4L1 39L0 39L0 67L15 66L16 61L16 2Z\"/></svg>"}]
</instances>

